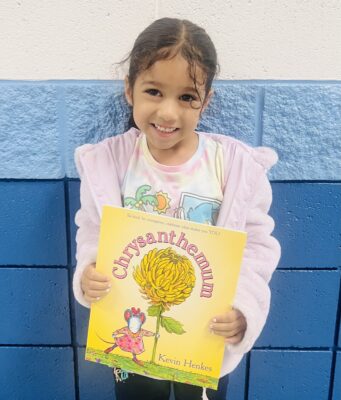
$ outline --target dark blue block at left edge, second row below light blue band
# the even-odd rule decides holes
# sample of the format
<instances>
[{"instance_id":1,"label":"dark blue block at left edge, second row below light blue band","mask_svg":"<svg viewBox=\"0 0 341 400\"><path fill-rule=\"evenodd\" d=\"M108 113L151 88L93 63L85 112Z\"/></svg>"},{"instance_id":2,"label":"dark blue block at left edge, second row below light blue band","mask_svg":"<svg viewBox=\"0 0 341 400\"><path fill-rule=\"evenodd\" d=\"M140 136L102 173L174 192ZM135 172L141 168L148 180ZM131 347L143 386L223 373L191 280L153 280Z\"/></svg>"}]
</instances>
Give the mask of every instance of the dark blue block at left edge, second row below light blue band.
<instances>
[{"instance_id":1,"label":"dark blue block at left edge, second row below light blue band","mask_svg":"<svg viewBox=\"0 0 341 400\"><path fill-rule=\"evenodd\" d=\"M0 268L0 343L71 343L68 271Z\"/></svg>"}]
</instances>

